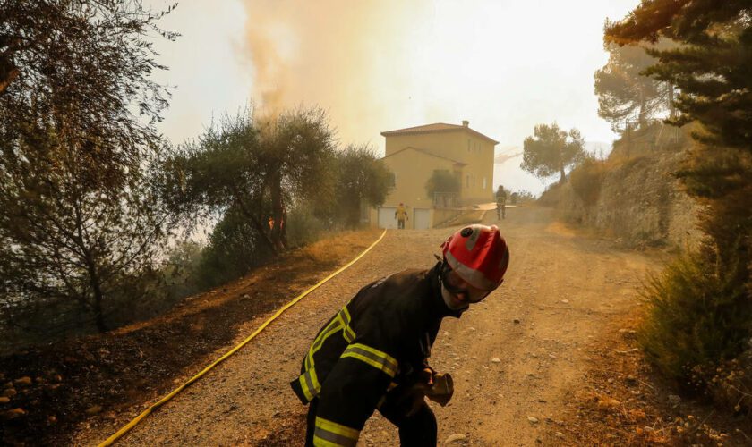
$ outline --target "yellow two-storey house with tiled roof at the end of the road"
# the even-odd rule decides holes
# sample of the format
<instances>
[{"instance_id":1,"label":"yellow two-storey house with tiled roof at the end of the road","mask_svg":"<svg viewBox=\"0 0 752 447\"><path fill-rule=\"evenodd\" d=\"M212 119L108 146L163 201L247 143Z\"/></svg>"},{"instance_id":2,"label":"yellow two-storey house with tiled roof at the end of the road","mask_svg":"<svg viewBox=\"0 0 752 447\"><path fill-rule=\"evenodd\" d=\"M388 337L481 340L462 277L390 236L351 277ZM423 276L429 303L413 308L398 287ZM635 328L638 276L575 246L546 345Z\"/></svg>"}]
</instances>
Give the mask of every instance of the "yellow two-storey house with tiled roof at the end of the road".
<instances>
[{"instance_id":1,"label":"yellow two-storey house with tiled roof at the end of the road","mask_svg":"<svg viewBox=\"0 0 752 447\"><path fill-rule=\"evenodd\" d=\"M372 216L378 226L397 227L393 210L400 203L408 207L406 228L432 228L456 214L451 208L493 199L493 148L499 142L474 131L469 122L438 122L381 135L386 139L382 160L394 174L394 189ZM428 196L426 181L440 170L460 179L457 195Z\"/></svg>"}]
</instances>

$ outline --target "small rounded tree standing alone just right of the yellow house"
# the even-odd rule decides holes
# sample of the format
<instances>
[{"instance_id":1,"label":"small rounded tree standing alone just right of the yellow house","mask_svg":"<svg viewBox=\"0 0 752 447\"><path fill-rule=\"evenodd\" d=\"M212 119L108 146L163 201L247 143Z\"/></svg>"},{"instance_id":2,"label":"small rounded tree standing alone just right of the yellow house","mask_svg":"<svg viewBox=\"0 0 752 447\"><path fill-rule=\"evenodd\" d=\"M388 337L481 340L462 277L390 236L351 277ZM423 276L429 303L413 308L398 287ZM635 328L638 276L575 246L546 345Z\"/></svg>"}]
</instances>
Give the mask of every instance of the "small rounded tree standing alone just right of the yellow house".
<instances>
[{"instance_id":1,"label":"small rounded tree standing alone just right of the yellow house","mask_svg":"<svg viewBox=\"0 0 752 447\"><path fill-rule=\"evenodd\" d=\"M584 144L585 140L577 129L562 131L556 122L538 124L534 136L525 139L520 167L540 178L559 173L560 182L563 182L564 169L584 156Z\"/></svg>"}]
</instances>

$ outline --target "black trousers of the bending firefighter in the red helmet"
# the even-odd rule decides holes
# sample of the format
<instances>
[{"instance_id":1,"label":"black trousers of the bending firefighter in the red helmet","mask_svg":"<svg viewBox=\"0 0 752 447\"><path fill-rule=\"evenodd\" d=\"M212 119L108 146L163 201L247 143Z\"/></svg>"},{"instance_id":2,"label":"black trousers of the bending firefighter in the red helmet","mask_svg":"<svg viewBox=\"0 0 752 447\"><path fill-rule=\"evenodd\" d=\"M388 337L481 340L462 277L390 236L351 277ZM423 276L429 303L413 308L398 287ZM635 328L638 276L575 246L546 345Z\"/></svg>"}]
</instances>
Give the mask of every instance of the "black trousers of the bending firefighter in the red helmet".
<instances>
[{"instance_id":1,"label":"black trousers of the bending firefighter in the red helmet","mask_svg":"<svg viewBox=\"0 0 752 447\"><path fill-rule=\"evenodd\" d=\"M305 432L306 447L313 445L313 432L316 429L316 409L319 399L313 399L308 406L307 428ZM425 401L409 416L404 406L390 402L388 399L379 409L381 416L399 428L399 443L409 447L435 447L436 417Z\"/></svg>"}]
</instances>

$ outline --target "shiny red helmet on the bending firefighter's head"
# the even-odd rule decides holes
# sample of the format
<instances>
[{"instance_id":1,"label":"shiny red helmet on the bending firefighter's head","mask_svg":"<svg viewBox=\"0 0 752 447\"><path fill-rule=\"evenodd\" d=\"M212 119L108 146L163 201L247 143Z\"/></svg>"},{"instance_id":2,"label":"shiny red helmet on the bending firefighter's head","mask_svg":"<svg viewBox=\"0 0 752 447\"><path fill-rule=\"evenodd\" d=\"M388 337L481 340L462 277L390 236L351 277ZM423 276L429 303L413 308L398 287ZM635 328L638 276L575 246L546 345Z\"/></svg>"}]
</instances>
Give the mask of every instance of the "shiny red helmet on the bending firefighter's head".
<instances>
[{"instance_id":1,"label":"shiny red helmet on the bending firefighter's head","mask_svg":"<svg viewBox=\"0 0 752 447\"><path fill-rule=\"evenodd\" d=\"M507 241L496 225L470 225L452 234L441 248L452 270L478 289L492 291L509 265Z\"/></svg>"}]
</instances>

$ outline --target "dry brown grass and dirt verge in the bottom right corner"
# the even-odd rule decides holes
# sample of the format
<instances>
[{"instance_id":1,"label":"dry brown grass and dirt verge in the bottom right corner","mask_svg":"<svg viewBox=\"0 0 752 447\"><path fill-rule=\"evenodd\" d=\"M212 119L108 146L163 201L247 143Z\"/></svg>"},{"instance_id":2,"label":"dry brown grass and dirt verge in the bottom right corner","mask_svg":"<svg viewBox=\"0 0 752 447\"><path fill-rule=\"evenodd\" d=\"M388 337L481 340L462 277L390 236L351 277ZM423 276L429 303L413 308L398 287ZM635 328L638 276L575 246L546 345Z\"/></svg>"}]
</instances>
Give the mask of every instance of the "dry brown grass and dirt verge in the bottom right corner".
<instances>
[{"instance_id":1,"label":"dry brown grass and dirt verge in the bottom right corner","mask_svg":"<svg viewBox=\"0 0 752 447\"><path fill-rule=\"evenodd\" d=\"M622 321L593 351L585 384L562 415L566 428L546 444L748 445L743 419L672 396L637 350L638 324L637 316Z\"/></svg>"}]
</instances>

